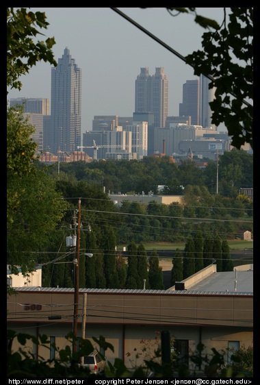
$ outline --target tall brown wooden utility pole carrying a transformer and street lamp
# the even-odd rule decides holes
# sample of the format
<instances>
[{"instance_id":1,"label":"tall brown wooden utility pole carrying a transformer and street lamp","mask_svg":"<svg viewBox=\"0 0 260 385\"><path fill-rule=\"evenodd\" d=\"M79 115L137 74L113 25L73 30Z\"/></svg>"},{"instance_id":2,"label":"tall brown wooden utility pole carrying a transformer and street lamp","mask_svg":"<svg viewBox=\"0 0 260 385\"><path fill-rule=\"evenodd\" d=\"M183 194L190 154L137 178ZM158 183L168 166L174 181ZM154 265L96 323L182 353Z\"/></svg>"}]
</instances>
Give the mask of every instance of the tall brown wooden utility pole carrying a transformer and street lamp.
<instances>
[{"instance_id":1,"label":"tall brown wooden utility pole carrying a transformer and street lamp","mask_svg":"<svg viewBox=\"0 0 260 385\"><path fill-rule=\"evenodd\" d=\"M74 288L74 312L73 312L73 353L77 351L77 319L79 312L79 248L80 248L80 227L81 227L81 199L79 199L79 208L77 213L77 240L76 240L76 259L75 266L75 288Z\"/></svg>"}]
</instances>

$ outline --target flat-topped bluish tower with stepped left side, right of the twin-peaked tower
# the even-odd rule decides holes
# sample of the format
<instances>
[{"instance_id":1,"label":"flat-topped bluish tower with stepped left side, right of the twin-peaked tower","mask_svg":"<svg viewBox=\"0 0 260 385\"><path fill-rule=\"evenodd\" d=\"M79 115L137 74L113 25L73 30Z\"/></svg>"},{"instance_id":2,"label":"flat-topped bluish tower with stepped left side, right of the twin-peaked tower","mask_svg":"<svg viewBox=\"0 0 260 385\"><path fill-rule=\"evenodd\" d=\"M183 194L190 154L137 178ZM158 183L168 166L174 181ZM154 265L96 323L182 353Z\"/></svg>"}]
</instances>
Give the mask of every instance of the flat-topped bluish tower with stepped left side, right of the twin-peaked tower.
<instances>
[{"instance_id":1,"label":"flat-topped bluish tower with stepped left side, right of the twin-peaked tower","mask_svg":"<svg viewBox=\"0 0 260 385\"><path fill-rule=\"evenodd\" d=\"M183 84L183 102L179 103L179 116L192 116L192 125L200 124L199 80L186 80Z\"/></svg>"}]
</instances>

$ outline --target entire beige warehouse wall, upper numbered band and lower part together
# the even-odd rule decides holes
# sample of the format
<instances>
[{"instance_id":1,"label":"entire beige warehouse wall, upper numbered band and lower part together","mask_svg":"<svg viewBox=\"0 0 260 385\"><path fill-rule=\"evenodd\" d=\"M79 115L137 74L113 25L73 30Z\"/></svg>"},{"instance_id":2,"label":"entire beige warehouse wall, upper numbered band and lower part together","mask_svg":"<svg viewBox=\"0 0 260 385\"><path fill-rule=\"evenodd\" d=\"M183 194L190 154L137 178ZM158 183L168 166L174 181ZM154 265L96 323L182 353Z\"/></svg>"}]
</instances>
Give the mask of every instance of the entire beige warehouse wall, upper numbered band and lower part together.
<instances>
[{"instance_id":1,"label":"entire beige warehouse wall, upper numbered band and lower part together","mask_svg":"<svg viewBox=\"0 0 260 385\"><path fill-rule=\"evenodd\" d=\"M68 345L65 336L73 330L73 290L30 290L21 289L18 295L8 298L8 329L34 336L54 336L57 347L64 349ZM169 330L176 339L189 340L192 350L201 342L209 353L212 347L217 350L227 347L229 340L237 340L246 347L252 345L252 295L160 294L142 293L142 290L138 294L99 293L99 290L87 293L85 336L104 336L114 346L114 353L109 350L105 353L112 364L118 357L131 369L134 349L141 347L140 341L151 340L153 347L156 333L163 330ZM83 293L86 290L79 293L79 314L84 312ZM29 304L29 309L33 305L34 310L25 310L24 303ZM40 306L35 309L35 304ZM49 320L50 315L57 314L61 314L62 319ZM79 317L77 332L81 337L82 317ZM36 353L36 347L30 343L27 348ZM18 349L17 343L13 349ZM49 358L48 349L40 347L38 353L44 359ZM140 362L142 358L135 363Z\"/></svg>"}]
</instances>

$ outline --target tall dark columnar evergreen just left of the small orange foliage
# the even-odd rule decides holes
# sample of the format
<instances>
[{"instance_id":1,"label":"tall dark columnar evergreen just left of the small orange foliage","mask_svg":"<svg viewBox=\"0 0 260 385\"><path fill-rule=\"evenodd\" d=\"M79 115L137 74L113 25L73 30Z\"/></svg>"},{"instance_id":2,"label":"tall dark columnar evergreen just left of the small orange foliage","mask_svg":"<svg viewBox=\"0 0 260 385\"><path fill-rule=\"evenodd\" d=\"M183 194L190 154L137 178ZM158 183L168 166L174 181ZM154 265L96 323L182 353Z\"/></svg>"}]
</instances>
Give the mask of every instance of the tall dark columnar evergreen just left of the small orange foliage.
<instances>
[{"instance_id":1,"label":"tall dark columnar evergreen just left of the small orange foliage","mask_svg":"<svg viewBox=\"0 0 260 385\"><path fill-rule=\"evenodd\" d=\"M112 227L107 227L103 237L104 271L107 288L118 288L118 272L116 270L116 236Z\"/></svg>"}]
</instances>

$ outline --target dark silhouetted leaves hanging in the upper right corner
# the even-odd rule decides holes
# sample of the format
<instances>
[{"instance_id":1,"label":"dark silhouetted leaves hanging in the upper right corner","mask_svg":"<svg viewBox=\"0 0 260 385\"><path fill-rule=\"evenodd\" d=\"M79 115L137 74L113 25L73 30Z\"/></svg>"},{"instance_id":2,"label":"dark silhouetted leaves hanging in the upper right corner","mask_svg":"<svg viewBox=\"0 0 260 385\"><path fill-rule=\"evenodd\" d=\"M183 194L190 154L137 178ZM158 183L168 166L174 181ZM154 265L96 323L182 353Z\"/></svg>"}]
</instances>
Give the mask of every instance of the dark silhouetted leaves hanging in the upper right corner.
<instances>
[{"instance_id":1,"label":"dark silhouetted leaves hanging in the upper right corner","mask_svg":"<svg viewBox=\"0 0 260 385\"><path fill-rule=\"evenodd\" d=\"M202 50L185 57L194 75L211 79L215 99L209 103L212 123L224 123L232 145L246 142L253 148L253 8L223 8L223 22L200 16L196 8L168 8L195 15L200 26L213 29L203 34Z\"/></svg>"}]
</instances>

